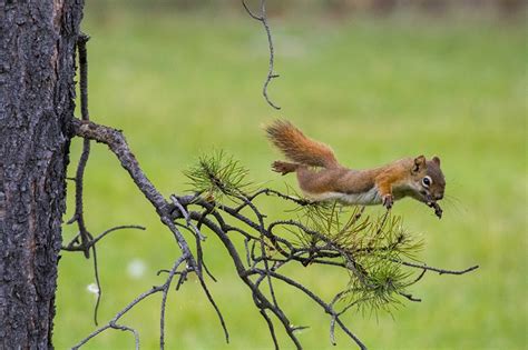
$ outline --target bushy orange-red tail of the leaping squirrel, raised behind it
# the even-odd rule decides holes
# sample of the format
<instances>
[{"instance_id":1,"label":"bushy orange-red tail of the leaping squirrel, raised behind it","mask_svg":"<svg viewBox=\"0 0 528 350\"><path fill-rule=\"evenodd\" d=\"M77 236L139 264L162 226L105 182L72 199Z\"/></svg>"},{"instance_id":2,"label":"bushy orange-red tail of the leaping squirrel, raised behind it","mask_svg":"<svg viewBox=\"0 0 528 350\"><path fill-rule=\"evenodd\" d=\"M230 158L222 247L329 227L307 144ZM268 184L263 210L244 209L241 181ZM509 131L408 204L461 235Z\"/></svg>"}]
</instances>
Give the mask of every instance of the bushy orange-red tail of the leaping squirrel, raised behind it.
<instances>
[{"instance_id":1,"label":"bushy orange-red tail of the leaping squirrel, raised behind it","mask_svg":"<svg viewBox=\"0 0 528 350\"><path fill-rule=\"evenodd\" d=\"M305 166L335 168L339 166L332 149L309 139L286 120L276 120L266 128L267 137L287 159Z\"/></svg>"}]
</instances>

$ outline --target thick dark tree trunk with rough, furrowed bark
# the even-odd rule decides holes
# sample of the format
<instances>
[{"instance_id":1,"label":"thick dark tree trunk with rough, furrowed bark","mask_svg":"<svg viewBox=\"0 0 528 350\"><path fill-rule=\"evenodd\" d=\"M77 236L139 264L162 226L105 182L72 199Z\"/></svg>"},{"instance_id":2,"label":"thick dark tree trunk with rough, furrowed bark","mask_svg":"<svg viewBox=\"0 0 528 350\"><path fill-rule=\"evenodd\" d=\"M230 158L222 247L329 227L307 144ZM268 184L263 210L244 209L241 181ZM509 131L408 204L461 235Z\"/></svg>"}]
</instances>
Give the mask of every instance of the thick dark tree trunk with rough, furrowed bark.
<instances>
[{"instance_id":1,"label":"thick dark tree trunk with rough, furrowed bark","mask_svg":"<svg viewBox=\"0 0 528 350\"><path fill-rule=\"evenodd\" d=\"M0 0L0 348L51 348L82 0Z\"/></svg>"}]
</instances>

